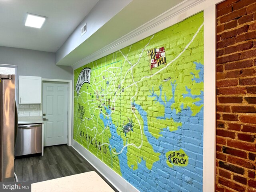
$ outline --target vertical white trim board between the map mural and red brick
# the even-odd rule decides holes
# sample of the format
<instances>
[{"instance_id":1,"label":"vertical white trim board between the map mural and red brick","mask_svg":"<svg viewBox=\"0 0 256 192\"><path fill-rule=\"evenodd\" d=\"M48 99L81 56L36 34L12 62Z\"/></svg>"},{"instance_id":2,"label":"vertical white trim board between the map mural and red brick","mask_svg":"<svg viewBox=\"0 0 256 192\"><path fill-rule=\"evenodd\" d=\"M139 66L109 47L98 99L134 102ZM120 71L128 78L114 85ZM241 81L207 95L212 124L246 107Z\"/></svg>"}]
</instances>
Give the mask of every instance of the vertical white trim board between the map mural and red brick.
<instances>
[{"instance_id":1,"label":"vertical white trim board between the map mural and red brick","mask_svg":"<svg viewBox=\"0 0 256 192\"><path fill-rule=\"evenodd\" d=\"M204 9L204 163L203 191L215 191L216 5ZM209 190L210 189L210 190Z\"/></svg>"}]
</instances>

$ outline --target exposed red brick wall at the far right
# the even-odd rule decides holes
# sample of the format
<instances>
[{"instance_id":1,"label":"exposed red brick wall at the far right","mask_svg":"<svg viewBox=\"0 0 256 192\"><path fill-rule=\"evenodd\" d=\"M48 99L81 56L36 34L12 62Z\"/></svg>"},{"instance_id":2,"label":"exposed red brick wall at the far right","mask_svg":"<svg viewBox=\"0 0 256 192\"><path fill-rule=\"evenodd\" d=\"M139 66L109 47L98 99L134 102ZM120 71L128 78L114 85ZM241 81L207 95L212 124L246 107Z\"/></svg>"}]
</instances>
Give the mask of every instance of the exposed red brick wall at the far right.
<instances>
[{"instance_id":1,"label":"exposed red brick wall at the far right","mask_svg":"<svg viewBox=\"0 0 256 192\"><path fill-rule=\"evenodd\" d=\"M256 192L256 0L217 5L216 191Z\"/></svg>"}]
</instances>

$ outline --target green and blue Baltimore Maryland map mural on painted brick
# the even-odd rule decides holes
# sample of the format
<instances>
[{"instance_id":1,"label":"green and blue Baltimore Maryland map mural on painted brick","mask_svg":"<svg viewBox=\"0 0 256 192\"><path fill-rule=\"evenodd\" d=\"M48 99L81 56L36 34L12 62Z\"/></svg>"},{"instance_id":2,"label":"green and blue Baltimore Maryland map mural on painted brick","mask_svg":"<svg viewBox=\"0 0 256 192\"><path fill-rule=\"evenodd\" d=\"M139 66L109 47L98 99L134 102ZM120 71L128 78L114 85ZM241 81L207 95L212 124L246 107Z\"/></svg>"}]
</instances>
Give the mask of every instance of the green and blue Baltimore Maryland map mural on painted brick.
<instances>
[{"instance_id":1,"label":"green and blue Baltimore Maryland map mural on painted brick","mask_svg":"<svg viewBox=\"0 0 256 192\"><path fill-rule=\"evenodd\" d=\"M203 22L74 70L74 140L140 191L202 191Z\"/></svg>"}]
</instances>

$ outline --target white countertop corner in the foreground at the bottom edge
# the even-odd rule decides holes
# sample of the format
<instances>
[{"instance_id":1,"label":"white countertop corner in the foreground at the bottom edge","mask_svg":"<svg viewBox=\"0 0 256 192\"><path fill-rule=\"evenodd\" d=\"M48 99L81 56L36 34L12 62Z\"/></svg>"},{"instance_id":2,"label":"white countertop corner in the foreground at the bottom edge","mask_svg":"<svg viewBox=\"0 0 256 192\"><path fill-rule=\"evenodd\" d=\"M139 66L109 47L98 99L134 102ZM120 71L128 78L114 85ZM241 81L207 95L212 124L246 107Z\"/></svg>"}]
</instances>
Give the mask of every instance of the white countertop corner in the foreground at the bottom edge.
<instances>
[{"instance_id":1,"label":"white countertop corner in the foreground at the bottom edge","mask_svg":"<svg viewBox=\"0 0 256 192\"><path fill-rule=\"evenodd\" d=\"M31 184L32 192L114 192L94 171Z\"/></svg>"}]
</instances>

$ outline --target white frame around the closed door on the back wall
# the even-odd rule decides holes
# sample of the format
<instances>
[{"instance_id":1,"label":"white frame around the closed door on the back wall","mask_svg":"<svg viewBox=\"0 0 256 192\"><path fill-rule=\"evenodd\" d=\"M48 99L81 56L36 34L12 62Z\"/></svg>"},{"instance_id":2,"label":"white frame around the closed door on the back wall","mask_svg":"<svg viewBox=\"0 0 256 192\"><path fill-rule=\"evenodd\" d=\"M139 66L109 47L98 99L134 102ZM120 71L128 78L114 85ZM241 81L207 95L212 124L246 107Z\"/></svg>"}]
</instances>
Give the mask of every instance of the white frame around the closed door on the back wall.
<instances>
[{"instance_id":1,"label":"white frame around the closed door on the back wall","mask_svg":"<svg viewBox=\"0 0 256 192\"><path fill-rule=\"evenodd\" d=\"M72 130L72 80L64 80L64 79L44 79L43 82L60 82L60 83L68 83L68 146L71 146L71 130ZM43 87L43 86L42 86ZM43 94L43 91L42 91Z\"/></svg>"}]
</instances>

